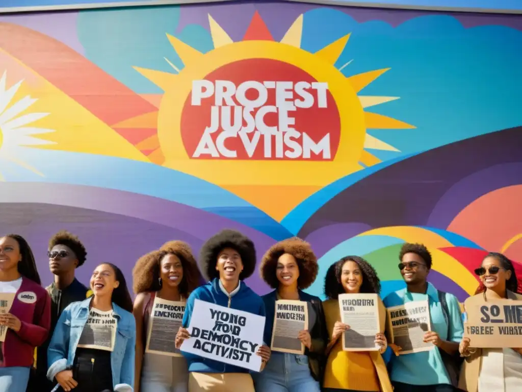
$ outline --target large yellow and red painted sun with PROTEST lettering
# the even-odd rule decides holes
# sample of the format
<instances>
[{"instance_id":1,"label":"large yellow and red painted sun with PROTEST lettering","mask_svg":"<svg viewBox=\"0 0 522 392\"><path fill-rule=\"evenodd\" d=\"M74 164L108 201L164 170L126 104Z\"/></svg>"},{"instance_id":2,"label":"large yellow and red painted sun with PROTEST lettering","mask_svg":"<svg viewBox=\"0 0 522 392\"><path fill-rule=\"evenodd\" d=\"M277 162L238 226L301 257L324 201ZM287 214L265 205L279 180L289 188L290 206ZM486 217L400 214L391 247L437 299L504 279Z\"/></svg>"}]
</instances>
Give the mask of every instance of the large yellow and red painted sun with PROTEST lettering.
<instances>
[{"instance_id":1,"label":"large yellow and red painted sun with PROTEST lettering","mask_svg":"<svg viewBox=\"0 0 522 392\"><path fill-rule=\"evenodd\" d=\"M372 150L398 152L367 130L415 128L365 110L398 97L359 94L388 68L346 77L341 71L351 61L336 67L350 34L311 53L301 48L303 15L279 42L258 13L239 42L210 15L209 25L214 49L206 53L167 34L184 65L176 66L165 54L172 73L135 67L164 91L158 113L158 145L153 146L161 148L164 166L216 183L281 220L318 189L381 162ZM278 84L287 90L271 93ZM195 91L194 86L199 85L205 86ZM257 96L254 92L248 98L245 90L254 87ZM295 98L296 93L301 100ZM295 111L293 117L281 117L281 105L275 103L281 94L298 106L289 109ZM207 104L201 103L201 97L210 97ZM256 99L266 107L256 107L252 103ZM253 105L250 109L256 115L256 127L260 111L274 112L271 120L259 122L264 130L245 130L249 108L241 100ZM241 105L243 108L238 108ZM263 116L270 119L272 114ZM219 119L221 134L210 130L211 122ZM300 131L294 132L295 143L288 142L288 134L270 131L277 129L267 125L270 121L271 125L289 122ZM284 124L287 129L291 125Z\"/></svg>"}]
</instances>

